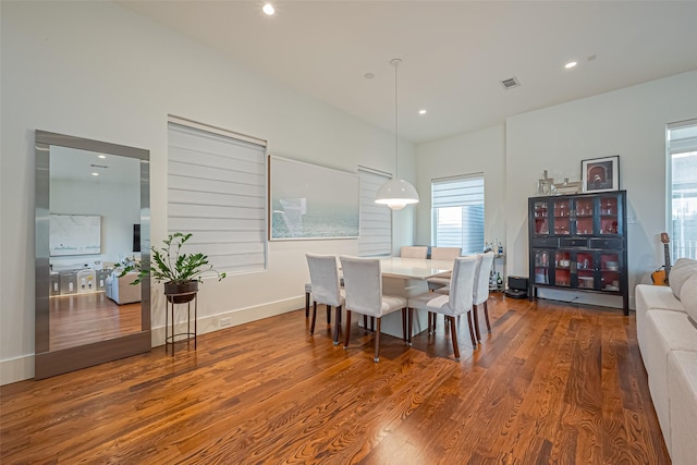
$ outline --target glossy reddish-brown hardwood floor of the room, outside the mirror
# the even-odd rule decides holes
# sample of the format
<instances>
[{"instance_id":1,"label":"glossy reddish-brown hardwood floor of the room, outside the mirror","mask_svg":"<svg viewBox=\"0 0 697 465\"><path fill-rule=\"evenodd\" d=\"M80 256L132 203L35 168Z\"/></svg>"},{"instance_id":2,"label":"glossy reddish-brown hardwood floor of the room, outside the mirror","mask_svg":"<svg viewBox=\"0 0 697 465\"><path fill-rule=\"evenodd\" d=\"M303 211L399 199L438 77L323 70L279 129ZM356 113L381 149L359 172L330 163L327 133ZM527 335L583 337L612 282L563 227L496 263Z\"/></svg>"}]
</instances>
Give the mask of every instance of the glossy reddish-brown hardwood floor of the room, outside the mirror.
<instances>
[{"instance_id":1,"label":"glossy reddish-brown hardwood floor of the room, outside the mirror","mask_svg":"<svg viewBox=\"0 0 697 465\"><path fill-rule=\"evenodd\" d=\"M452 358L439 319L407 347L304 309L0 389L0 462L668 464L634 315L489 301ZM320 314L322 315L322 314Z\"/></svg>"}]
</instances>

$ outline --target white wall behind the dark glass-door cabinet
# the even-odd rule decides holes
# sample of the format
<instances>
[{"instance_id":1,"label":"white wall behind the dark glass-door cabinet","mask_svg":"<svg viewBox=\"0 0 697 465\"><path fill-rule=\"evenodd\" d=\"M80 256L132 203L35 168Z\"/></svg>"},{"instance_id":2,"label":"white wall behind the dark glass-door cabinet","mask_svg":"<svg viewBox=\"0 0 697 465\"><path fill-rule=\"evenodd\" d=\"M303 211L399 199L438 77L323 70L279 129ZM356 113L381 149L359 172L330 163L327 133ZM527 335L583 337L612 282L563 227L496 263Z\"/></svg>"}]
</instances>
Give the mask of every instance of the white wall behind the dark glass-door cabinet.
<instances>
[{"instance_id":1,"label":"white wall behind the dark glass-door cabinet","mask_svg":"<svg viewBox=\"0 0 697 465\"><path fill-rule=\"evenodd\" d=\"M697 117L697 72L511 117L506 120L509 267L528 274L527 197L548 170L557 182L580 179L580 160L620 155L627 191L629 306L634 286L663 264L665 124ZM650 282L650 281L649 281ZM548 293L571 299L575 294ZM603 297L603 298L600 298ZM620 306L619 298L578 293L578 301Z\"/></svg>"}]
</instances>

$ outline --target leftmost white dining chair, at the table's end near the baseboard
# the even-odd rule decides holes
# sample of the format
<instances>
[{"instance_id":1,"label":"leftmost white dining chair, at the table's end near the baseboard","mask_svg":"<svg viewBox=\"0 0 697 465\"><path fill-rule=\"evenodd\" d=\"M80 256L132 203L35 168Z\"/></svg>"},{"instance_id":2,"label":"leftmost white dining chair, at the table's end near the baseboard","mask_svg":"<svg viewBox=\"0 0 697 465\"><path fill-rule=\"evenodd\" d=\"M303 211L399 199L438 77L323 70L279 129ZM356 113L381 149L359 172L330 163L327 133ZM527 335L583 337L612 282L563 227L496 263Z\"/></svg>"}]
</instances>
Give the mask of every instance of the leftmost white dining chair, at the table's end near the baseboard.
<instances>
[{"instance_id":1,"label":"leftmost white dining chair, at the table's end near the baseboard","mask_svg":"<svg viewBox=\"0 0 697 465\"><path fill-rule=\"evenodd\" d=\"M339 267L333 255L305 254L309 268L309 281L313 296L313 321L309 333L315 333L317 319L317 304L327 306L327 323L331 323L331 307L337 309L334 318L334 345L339 344L339 328L341 326L341 308L344 305L344 293L339 282Z\"/></svg>"}]
</instances>

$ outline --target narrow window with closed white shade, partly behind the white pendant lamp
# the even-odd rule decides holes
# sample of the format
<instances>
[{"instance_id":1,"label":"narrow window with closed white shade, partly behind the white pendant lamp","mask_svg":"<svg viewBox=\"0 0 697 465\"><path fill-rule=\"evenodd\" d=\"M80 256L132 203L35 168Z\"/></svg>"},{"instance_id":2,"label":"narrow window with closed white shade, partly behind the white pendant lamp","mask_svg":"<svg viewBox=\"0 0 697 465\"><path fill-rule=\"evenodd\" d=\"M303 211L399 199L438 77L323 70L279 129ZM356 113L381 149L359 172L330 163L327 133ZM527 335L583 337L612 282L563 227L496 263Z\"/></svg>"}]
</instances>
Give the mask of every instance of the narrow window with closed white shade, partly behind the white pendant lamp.
<instances>
[{"instance_id":1,"label":"narrow window with closed white shade, partly behind the white pendant lamp","mask_svg":"<svg viewBox=\"0 0 697 465\"><path fill-rule=\"evenodd\" d=\"M392 254L392 210L375 203L382 184L391 176L368 168L358 168L360 179L360 236L358 255L362 257Z\"/></svg>"}]
</instances>

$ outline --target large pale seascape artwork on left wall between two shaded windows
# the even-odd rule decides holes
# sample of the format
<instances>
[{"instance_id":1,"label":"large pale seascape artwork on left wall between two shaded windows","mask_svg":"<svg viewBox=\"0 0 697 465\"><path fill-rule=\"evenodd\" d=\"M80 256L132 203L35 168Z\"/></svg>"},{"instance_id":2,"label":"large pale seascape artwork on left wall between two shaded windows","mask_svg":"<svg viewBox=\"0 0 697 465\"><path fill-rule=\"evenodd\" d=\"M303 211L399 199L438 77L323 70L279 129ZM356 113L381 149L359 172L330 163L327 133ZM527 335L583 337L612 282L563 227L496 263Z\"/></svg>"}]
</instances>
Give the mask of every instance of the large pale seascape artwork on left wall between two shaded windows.
<instances>
[{"instance_id":1,"label":"large pale seascape artwork on left wall between two shaded windows","mask_svg":"<svg viewBox=\"0 0 697 465\"><path fill-rule=\"evenodd\" d=\"M269 156L269 240L358 237L358 174Z\"/></svg>"}]
</instances>

